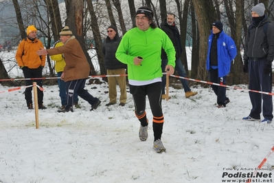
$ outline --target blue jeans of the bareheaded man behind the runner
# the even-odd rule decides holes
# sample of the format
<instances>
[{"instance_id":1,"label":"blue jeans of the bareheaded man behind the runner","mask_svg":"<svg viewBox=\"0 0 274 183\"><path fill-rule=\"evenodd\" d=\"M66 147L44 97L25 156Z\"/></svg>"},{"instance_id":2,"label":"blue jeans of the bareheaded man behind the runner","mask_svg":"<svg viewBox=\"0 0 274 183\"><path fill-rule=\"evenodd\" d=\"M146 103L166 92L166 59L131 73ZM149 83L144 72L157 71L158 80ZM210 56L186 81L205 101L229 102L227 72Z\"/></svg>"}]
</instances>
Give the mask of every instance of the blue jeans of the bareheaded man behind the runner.
<instances>
[{"instance_id":1,"label":"blue jeans of the bareheaded man behind the runner","mask_svg":"<svg viewBox=\"0 0 274 183\"><path fill-rule=\"evenodd\" d=\"M163 58L162 59L162 64L161 64L162 72L165 72L165 66L166 65L168 65L168 58ZM176 70L176 72L179 73L179 76L184 77L184 78L187 77L187 73L185 72L185 68L183 67L183 64L182 64L180 58L176 58L175 70ZM190 92L191 89L188 86L187 80L185 80L183 78L180 78L180 80L181 80L181 83L183 85L183 89L185 90L185 93ZM166 83L166 76L163 75L162 76L162 94L165 94L165 83Z\"/></svg>"}]
</instances>

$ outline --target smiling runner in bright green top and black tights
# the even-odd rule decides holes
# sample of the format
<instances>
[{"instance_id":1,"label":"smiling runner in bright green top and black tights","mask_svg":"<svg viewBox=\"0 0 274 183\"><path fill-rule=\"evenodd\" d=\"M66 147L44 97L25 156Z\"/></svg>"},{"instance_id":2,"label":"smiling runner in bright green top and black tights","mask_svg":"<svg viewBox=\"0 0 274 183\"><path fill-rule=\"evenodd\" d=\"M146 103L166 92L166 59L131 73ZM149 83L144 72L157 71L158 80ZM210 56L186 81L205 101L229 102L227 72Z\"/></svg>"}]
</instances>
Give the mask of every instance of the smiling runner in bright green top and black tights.
<instances>
[{"instance_id":1,"label":"smiling runner in bright green top and black tights","mask_svg":"<svg viewBox=\"0 0 274 183\"><path fill-rule=\"evenodd\" d=\"M158 153L165 151L161 142L163 112L161 109L161 48L168 55L167 74L174 73L175 50L170 38L157 28L153 22L153 12L141 7L136 12L137 28L128 30L116 52L116 58L128 65L130 94L133 94L135 115L141 122L139 138L148 138L148 119L146 118L146 96L150 102L154 131L153 149Z\"/></svg>"}]
</instances>

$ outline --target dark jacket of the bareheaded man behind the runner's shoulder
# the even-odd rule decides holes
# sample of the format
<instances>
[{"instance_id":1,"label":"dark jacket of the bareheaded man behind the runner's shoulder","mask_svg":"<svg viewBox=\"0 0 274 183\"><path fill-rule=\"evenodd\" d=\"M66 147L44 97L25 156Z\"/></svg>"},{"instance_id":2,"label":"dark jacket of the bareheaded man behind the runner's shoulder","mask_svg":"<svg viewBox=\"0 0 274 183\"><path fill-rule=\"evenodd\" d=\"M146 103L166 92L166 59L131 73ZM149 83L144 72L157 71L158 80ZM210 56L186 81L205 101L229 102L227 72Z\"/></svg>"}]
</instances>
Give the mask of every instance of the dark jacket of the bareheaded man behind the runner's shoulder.
<instances>
[{"instance_id":1,"label":"dark jacket of the bareheaded man behind the runner's shoulder","mask_svg":"<svg viewBox=\"0 0 274 183\"><path fill-rule=\"evenodd\" d=\"M170 40L172 41L174 45L176 58L180 58L181 53L183 52L183 48L182 48L182 43L180 39L180 33L175 23L173 23L173 25L168 25L167 20L165 19L161 23L161 30L163 30L165 34L168 34ZM163 49L161 53L161 58L167 58L167 55L165 54L165 51Z\"/></svg>"}]
</instances>

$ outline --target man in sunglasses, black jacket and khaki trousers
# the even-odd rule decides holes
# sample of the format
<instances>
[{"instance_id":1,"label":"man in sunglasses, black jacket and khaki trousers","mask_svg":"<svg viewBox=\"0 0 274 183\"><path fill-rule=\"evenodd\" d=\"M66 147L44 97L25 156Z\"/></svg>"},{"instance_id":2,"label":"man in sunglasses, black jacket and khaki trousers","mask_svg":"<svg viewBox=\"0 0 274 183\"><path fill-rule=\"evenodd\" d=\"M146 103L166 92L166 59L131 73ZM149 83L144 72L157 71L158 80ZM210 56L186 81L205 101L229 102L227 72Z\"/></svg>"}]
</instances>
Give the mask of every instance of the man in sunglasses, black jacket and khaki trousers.
<instances>
[{"instance_id":1,"label":"man in sunglasses, black jacket and khaki trousers","mask_svg":"<svg viewBox=\"0 0 274 183\"><path fill-rule=\"evenodd\" d=\"M106 74L108 75L120 75L126 74L126 65L121 63L115 57L117 47L121 41L117 28L111 25L107 29L108 36L106 36L106 41L104 41L102 46L102 51L104 53L104 65L106 67ZM117 91L116 84L118 83L121 96L119 98L119 105L124 106L126 103L126 76L110 76L109 81L109 103L106 106L114 105L117 103Z\"/></svg>"}]
</instances>

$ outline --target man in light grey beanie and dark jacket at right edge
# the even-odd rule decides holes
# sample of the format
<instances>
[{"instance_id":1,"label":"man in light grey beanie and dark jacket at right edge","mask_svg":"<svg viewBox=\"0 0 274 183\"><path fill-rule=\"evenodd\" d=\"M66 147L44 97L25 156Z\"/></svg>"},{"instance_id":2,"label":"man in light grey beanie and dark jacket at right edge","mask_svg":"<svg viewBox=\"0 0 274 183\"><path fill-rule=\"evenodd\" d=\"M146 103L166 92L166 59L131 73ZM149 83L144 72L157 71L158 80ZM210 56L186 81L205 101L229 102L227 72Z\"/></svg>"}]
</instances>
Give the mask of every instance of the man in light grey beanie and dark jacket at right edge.
<instances>
[{"instance_id":1,"label":"man in light grey beanie and dark jacket at right edge","mask_svg":"<svg viewBox=\"0 0 274 183\"><path fill-rule=\"evenodd\" d=\"M251 10L252 24L249 25L244 44L244 72L249 72L249 89L262 92L272 91L272 62L274 59L274 25L264 14L264 3L259 3ZM264 24L268 25L264 25ZM267 26L267 27L266 27ZM267 28L267 30L266 30ZM273 102L269 94L249 92L252 109L243 120L271 123ZM263 103L262 103L263 101Z\"/></svg>"}]
</instances>

